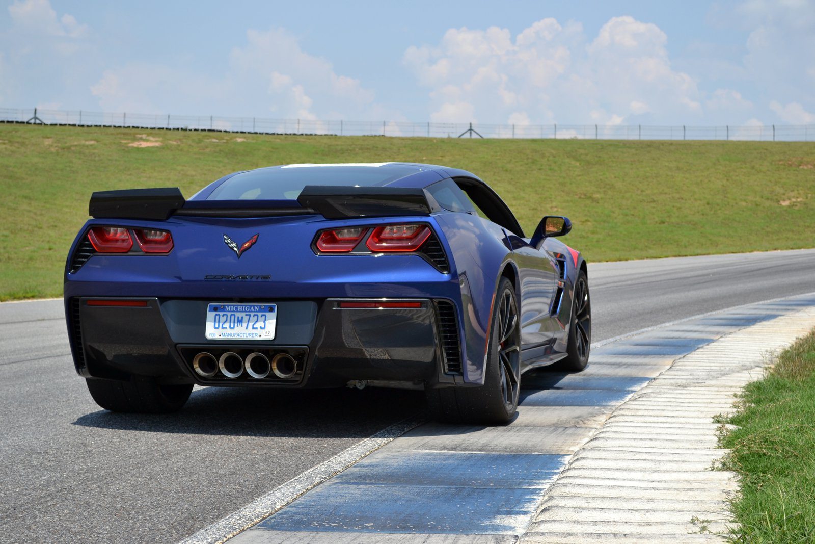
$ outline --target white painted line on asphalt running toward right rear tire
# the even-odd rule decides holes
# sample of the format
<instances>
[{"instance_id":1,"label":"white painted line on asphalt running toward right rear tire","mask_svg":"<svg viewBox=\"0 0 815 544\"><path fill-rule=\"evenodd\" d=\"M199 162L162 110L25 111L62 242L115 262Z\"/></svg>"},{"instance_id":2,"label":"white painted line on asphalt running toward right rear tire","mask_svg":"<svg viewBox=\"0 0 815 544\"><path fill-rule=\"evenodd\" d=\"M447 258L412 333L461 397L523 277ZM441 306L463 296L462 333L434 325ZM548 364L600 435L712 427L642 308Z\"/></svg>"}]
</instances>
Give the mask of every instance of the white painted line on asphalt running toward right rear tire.
<instances>
[{"instance_id":1,"label":"white painted line on asphalt running toward right rear tire","mask_svg":"<svg viewBox=\"0 0 815 544\"><path fill-rule=\"evenodd\" d=\"M426 421L422 414L417 414L390 427L377 432L361 442L354 444L349 449L337 453L333 458L329 458L319 463L316 467L303 472L301 475L293 477L285 484L273 489L270 493L250 502L239 511L232 512L222 520L200 529L191 536L185 538L179 544L220 544L226 542L236 534L249 529L255 524L266 519L270 515L279 511L289 502L300 497L309 489L322 484L333 475L346 470L346 468L366 457L369 453L381 448L391 440L402 436L413 427L418 427Z\"/></svg>"}]
</instances>

